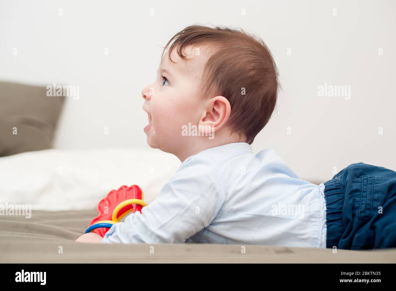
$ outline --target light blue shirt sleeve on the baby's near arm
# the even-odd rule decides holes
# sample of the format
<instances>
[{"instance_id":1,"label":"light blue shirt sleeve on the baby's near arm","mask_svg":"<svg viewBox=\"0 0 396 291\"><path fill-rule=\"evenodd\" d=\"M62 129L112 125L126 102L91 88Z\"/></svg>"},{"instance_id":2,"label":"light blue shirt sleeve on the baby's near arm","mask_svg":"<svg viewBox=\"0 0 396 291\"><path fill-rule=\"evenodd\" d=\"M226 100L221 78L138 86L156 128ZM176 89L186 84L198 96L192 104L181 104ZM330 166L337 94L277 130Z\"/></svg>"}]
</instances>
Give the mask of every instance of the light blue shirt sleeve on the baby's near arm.
<instances>
[{"instance_id":1,"label":"light blue shirt sleeve on the baby's near arm","mask_svg":"<svg viewBox=\"0 0 396 291\"><path fill-rule=\"evenodd\" d=\"M102 243L184 243L208 226L225 201L219 163L198 154L185 160L142 213L114 224Z\"/></svg>"}]
</instances>

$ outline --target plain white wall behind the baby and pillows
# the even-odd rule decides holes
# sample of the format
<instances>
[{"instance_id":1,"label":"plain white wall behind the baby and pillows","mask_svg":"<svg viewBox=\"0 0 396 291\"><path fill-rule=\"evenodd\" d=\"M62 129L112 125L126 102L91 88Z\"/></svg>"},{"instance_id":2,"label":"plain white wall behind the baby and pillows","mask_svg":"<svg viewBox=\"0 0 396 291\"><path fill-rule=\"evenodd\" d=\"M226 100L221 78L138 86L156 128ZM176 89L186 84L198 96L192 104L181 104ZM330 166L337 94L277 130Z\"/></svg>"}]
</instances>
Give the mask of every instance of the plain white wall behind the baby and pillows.
<instances>
[{"instance_id":1,"label":"plain white wall behind the baby and pillows","mask_svg":"<svg viewBox=\"0 0 396 291\"><path fill-rule=\"evenodd\" d=\"M1 0L0 80L80 86L80 99L70 97L61 116L58 148L147 147L141 90L155 78L161 46L195 22L241 27L272 49L283 87L274 117L253 143L256 152L274 148L311 181L330 179L333 167L339 171L353 162L396 170L395 6ZM351 86L350 100L318 97L324 83Z\"/></svg>"}]
</instances>

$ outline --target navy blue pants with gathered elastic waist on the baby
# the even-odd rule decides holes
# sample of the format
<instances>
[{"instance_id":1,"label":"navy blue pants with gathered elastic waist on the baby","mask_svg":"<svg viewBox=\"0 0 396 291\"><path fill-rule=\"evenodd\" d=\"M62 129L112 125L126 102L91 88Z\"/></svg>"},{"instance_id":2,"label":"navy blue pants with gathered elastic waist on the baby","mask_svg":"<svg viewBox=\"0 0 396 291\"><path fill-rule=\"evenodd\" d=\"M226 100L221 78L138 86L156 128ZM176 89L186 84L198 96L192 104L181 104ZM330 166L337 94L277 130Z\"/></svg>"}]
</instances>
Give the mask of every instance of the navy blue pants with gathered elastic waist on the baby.
<instances>
[{"instance_id":1,"label":"navy blue pants with gathered elastic waist on the baby","mask_svg":"<svg viewBox=\"0 0 396 291\"><path fill-rule=\"evenodd\" d=\"M351 164L324 183L327 246L396 247L396 172Z\"/></svg>"}]
</instances>

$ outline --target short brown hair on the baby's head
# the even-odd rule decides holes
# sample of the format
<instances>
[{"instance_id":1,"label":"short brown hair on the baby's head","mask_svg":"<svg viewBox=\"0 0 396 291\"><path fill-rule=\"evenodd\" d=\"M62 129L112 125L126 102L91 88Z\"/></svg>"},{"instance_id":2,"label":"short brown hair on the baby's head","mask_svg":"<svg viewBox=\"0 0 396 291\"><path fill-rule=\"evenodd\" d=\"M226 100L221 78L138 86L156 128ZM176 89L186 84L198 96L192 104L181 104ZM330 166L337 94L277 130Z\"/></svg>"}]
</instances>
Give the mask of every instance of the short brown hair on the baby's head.
<instances>
[{"instance_id":1,"label":"short brown hair on the baby's head","mask_svg":"<svg viewBox=\"0 0 396 291\"><path fill-rule=\"evenodd\" d=\"M174 48L182 59L187 59L183 55L187 46L213 49L203 70L202 97L227 98L231 105L227 126L253 143L274 112L279 86L278 70L263 40L242 29L191 25L169 40L162 57L172 41L170 60Z\"/></svg>"}]
</instances>

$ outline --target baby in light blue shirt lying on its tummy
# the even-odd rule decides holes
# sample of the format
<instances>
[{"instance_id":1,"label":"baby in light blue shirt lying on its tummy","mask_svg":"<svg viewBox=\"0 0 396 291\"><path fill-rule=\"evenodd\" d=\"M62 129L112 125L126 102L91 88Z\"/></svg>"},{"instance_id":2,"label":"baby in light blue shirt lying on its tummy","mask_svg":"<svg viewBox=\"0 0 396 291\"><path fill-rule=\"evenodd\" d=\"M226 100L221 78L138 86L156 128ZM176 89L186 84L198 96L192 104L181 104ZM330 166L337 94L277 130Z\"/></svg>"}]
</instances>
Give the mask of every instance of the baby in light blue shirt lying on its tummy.
<instances>
[{"instance_id":1,"label":"baby in light blue shirt lying on its tummy","mask_svg":"<svg viewBox=\"0 0 396 291\"><path fill-rule=\"evenodd\" d=\"M318 186L300 180L272 148L253 154L278 91L262 40L240 29L192 25L169 40L161 60L156 80L142 91L144 131L150 147L174 154L181 165L143 214L114 224L104 238L89 233L77 241L394 246L396 236L384 243L367 233L383 223L377 209L396 189L394 171L353 164ZM393 180L374 196L381 171Z\"/></svg>"}]
</instances>

